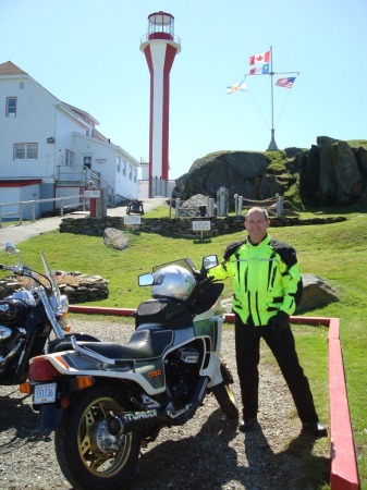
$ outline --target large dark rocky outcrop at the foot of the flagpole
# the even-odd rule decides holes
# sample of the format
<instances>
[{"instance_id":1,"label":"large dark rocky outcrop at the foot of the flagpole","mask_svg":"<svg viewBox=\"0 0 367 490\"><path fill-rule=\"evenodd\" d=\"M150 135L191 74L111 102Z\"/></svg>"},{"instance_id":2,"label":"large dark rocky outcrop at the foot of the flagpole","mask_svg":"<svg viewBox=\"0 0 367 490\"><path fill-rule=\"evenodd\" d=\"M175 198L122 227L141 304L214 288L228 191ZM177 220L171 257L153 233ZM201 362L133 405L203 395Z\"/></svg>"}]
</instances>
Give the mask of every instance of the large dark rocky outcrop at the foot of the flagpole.
<instances>
[{"instance_id":1,"label":"large dark rocky outcrop at the foot of the flagpole","mask_svg":"<svg viewBox=\"0 0 367 490\"><path fill-rule=\"evenodd\" d=\"M264 200L286 193L298 194L305 204L350 205L367 193L367 142L318 136L308 150L209 154L176 180L172 195L182 200L196 194L216 198L222 186L231 205L235 194Z\"/></svg>"}]
</instances>

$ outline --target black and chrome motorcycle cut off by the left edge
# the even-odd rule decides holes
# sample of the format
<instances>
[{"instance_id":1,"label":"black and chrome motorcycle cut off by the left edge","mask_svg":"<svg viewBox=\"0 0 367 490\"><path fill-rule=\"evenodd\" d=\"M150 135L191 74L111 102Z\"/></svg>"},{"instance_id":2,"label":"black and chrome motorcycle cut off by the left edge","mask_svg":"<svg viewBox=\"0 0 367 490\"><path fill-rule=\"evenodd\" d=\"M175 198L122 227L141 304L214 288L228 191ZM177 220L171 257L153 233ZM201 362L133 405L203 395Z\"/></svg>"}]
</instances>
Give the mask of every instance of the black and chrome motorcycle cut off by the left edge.
<instances>
[{"instance_id":1,"label":"black and chrome motorcycle cut off by the left edge","mask_svg":"<svg viewBox=\"0 0 367 490\"><path fill-rule=\"evenodd\" d=\"M29 359L53 351L69 335L68 297L61 295L44 253L45 273L22 264L20 250L11 243L5 252L17 256L17 264L0 264L0 270L20 278L19 291L0 301L0 385L21 384L27 379ZM94 340L75 334L78 340ZM49 342L50 341L50 342Z\"/></svg>"}]
</instances>

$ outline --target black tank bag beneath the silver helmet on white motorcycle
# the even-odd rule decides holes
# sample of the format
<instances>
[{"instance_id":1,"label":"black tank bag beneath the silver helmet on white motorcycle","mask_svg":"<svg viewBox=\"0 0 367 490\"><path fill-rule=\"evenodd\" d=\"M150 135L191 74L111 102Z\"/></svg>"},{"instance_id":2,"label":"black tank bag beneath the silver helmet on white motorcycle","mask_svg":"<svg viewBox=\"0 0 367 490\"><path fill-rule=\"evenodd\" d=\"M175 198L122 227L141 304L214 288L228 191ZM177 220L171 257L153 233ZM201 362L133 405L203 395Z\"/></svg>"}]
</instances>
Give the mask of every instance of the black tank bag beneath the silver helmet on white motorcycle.
<instances>
[{"instance_id":1,"label":"black tank bag beneath the silver helmet on white motorcycle","mask_svg":"<svg viewBox=\"0 0 367 490\"><path fill-rule=\"evenodd\" d=\"M180 329L193 323L193 314L182 302L173 299L148 299L139 304L135 328L143 323L160 323L168 329Z\"/></svg>"}]
</instances>

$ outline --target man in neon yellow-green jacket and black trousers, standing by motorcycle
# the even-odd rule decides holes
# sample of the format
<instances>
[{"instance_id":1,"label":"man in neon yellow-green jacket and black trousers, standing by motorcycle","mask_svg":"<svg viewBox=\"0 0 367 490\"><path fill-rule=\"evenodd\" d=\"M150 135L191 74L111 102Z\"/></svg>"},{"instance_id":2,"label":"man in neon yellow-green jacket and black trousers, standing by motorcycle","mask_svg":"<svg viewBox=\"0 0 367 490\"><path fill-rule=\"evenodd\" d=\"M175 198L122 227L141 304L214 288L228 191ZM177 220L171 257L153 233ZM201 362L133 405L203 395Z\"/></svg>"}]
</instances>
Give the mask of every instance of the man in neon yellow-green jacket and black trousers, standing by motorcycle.
<instances>
[{"instance_id":1,"label":"man in neon yellow-green jacket and black trousers, standing by motorcycle","mask_svg":"<svg viewBox=\"0 0 367 490\"><path fill-rule=\"evenodd\" d=\"M250 208L245 217L247 238L229 245L223 261L208 271L209 278L233 278L235 351L243 403L238 429L246 432L257 422L262 338L288 383L303 428L326 437L327 429L318 420L289 322L302 287L296 253L288 244L270 238L269 225L266 210Z\"/></svg>"}]
</instances>

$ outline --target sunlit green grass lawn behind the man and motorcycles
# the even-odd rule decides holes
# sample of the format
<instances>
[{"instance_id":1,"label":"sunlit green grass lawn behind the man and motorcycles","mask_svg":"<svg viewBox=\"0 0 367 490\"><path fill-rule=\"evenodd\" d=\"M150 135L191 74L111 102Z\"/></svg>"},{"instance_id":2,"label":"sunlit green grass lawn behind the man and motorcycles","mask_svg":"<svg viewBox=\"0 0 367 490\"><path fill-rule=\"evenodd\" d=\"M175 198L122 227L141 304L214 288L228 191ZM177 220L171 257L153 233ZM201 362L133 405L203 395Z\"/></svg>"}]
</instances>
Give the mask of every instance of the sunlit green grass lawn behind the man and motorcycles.
<instances>
[{"instance_id":1,"label":"sunlit green grass lawn behind the man and motorcycles","mask_svg":"<svg viewBox=\"0 0 367 490\"><path fill-rule=\"evenodd\" d=\"M345 209L325 211L325 216L344 215L345 222L277 228L271 236L291 243L297 250L303 273L315 273L331 284L341 296L339 303L308 313L311 316L339 317L343 348L348 403L360 488L367 489L367 409L366 409L366 318L367 318L367 215ZM168 208L159 208L146 217L168 216ZM308 217L310 213L302 213ZM151 271L155 265L182 257L189 257L200 267L201 257L217 254L225 246L242 240L236 232L211 240L162 237L152 233L131 233L130 247L123 252L106 248L101 237L72 235L58 231L45 233L19 245L25 264L41 270L39 252L42 249L54 269L68 272L100 274L110 281L110 295L99 301L99 306L135 308L149 297L149 289L138 287L137 275ZM12 258L0 253L0 262L11 264ZM230 294L231 283L225 281L224 295ZM88 303L93 305L93 303ZM307 316L307 314L305 314ZM320 418L328 418L327 393L327 340L326 329L295 326L297 350L309 378ZM322 449L325 442L317 442ZM318 446L318 444L321 444Z\"/></svg>"}]
</instances>

